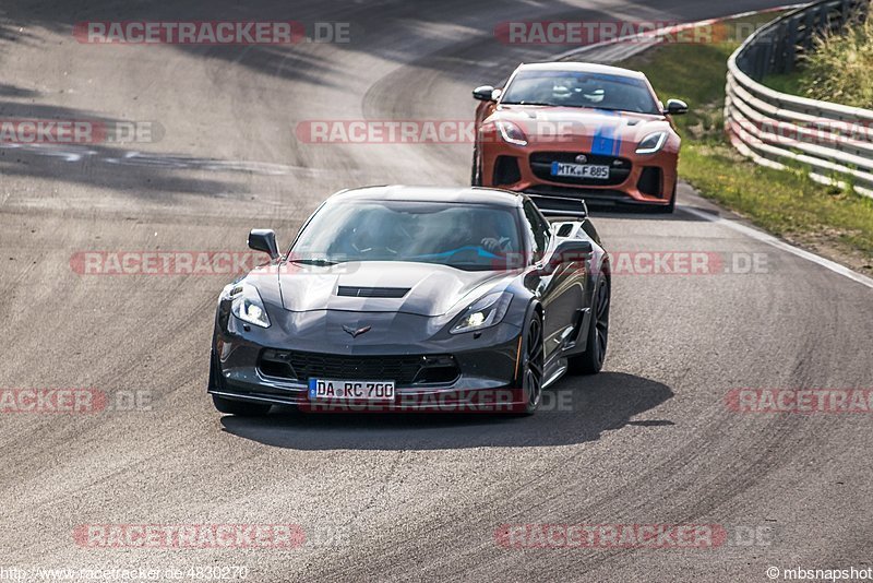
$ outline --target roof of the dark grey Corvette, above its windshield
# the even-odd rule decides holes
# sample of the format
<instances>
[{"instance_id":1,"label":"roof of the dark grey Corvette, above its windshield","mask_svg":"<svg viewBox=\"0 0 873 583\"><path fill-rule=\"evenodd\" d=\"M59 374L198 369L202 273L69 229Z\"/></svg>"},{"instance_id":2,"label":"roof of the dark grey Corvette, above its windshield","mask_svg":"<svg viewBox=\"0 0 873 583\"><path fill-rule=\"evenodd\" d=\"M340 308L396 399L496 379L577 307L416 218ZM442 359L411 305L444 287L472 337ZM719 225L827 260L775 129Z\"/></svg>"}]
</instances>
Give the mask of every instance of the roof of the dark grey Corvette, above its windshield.
<instances>
[{"instance_id":1,"label":"roof of the dark grey Corvette, above its windshield","mask_svg":"<svg viewBox=\"0 0 873 583\"><path fill-rule=\"evenodd\" d=\"M445 202L467 204L491 204L495 206L518 206L523 194L479 187L406 187L400 185L361 187L340 190L330 198L337 200L360 201L412 201Z\"/></svg>"}]
</instances>

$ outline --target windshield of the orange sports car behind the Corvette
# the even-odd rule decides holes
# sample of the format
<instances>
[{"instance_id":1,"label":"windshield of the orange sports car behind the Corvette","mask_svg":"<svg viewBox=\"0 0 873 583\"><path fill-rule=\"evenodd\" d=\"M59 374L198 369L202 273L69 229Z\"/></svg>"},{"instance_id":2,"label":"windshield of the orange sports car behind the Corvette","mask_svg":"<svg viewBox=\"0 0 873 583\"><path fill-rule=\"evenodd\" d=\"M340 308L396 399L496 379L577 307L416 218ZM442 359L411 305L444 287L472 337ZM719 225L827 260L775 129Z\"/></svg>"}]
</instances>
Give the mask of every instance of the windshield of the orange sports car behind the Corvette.
<instances>
[{"instance_id":1,"label":"windshield of the orange sports car behind the Corvette","mask_svg":"<svg viewBox=\"0 0 873 583\"><path fill-rule=\"evenodd\" d=\"M660 112L642 79L572 71L519 71L500 103Z\"/></svg>"}]
</instances>

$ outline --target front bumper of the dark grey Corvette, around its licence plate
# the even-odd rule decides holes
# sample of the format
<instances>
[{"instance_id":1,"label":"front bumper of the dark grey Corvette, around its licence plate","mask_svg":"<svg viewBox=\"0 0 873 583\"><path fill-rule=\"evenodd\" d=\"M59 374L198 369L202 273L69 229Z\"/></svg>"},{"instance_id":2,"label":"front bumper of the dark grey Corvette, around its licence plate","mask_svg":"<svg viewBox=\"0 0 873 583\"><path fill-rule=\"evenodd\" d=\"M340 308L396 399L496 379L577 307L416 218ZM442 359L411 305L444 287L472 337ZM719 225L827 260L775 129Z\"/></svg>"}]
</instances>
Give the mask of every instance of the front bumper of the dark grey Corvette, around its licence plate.
<instances>
[{"instance_id":1,"label":"front bumper of the dark grey Corvette, around its licence plate","mask_svg":"<svg viewBox=\"0 0 873 583\"><path fill-rule=\"evenodd\" d=\"M312 412L512 413L526 405L518 382L521 329L514 324L449 334L433 333L430 318L403 313L288 312L284 318L273 318L270 329L244 330L235 317L223 322L219 313L208 392ZM372 330L352 338L340 325L349 321L367 322ZM418 370L431 364L443 369L434 376L414 372L419 359ZM450 361L454 378L445 373ZM379 378L388 374L397 378ZM310 378L394 381L395 398L312 401Z\"/></svg>"}]
</instances>

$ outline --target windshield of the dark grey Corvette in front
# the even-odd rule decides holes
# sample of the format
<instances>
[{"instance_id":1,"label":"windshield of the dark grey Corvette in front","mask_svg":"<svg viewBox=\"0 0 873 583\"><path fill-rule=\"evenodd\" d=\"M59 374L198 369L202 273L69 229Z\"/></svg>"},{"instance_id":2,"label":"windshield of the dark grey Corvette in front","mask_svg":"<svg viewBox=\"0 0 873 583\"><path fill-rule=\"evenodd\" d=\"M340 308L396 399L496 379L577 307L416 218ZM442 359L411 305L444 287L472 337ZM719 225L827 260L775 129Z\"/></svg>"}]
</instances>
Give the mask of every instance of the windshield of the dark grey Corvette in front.
<instances>
[{"instance_id":1,"label":"windshield of the dark grey Corvette in front","mask_svg":"<svg viewBox=\"0 0 873 583\"><path fill-rule=\"evenodd\" d=\"M510 258L522 254L515 217L511 209L480 204L328 202L300 234L289 261L415 261L505 270Z\"/></svg>"}]
</instances>

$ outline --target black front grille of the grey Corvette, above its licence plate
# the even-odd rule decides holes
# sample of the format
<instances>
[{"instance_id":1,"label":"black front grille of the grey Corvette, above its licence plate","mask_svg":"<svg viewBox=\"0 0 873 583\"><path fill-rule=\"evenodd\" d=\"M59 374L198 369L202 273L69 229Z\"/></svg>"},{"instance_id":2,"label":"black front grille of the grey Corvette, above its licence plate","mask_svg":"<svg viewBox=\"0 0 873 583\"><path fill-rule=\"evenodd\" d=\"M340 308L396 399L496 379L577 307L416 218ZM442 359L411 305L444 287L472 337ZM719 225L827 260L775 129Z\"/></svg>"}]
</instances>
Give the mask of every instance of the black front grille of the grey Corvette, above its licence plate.
<instances>
[{"instance_id":1,"label":"black front grille of the grey Corvette, above its licence plate","mask_svg":"<svg viewBox=\"0 0 873 583\"><path fill-rule=\"evenodd\" d=\"M263 374L308 382L309 379L394 381L399 385L449 384L461 376L455 358L440 356L340 356L298 350L262 350Z\"/></svg>"}]
</instances>

